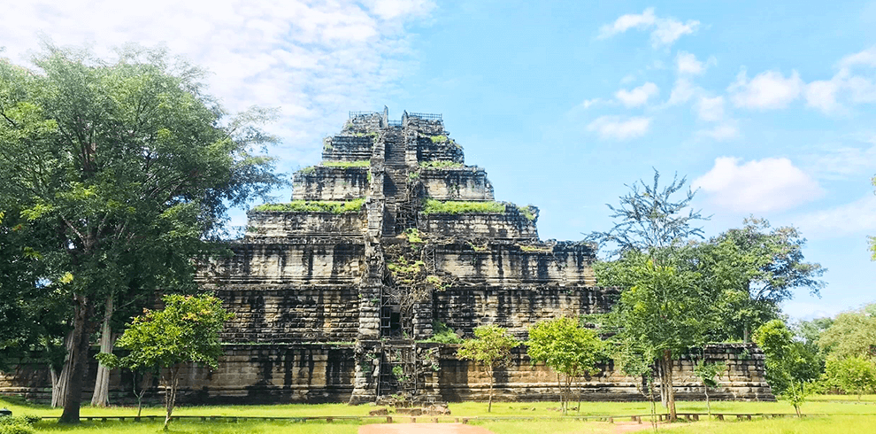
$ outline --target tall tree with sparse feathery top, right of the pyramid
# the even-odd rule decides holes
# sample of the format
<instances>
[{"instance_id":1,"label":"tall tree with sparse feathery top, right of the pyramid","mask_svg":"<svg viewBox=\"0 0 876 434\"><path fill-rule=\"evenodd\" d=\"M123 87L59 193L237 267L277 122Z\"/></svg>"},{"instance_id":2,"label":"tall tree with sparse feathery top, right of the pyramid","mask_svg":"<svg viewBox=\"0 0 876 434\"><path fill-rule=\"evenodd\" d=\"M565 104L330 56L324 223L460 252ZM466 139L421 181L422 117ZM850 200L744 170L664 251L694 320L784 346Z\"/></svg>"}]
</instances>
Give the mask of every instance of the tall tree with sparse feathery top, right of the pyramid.
<instances>
[{"instance_id":1,"label":"tall tree with sparse feathery top, right of the pyramid","mask_svg":"<svg viewBox=\"0 0 876 434\"><path fill-rule=\"evenodd\" d=\"M655 170L651 184L634 183L619 206L608 205L614 227L593 232L588 240L616 246L610 253L618 259L595 267L600 284L623 289L609 322L618 330L620 347L634 348L657 364L663 401L674 421L672 360L704 343L713 329L716 296L703 284L690 247L703 237L692 223L705 220L690 207L695 193L684 190L685 178L676 176L663 188L659 181Z\"/></svg>"}]
</instances>

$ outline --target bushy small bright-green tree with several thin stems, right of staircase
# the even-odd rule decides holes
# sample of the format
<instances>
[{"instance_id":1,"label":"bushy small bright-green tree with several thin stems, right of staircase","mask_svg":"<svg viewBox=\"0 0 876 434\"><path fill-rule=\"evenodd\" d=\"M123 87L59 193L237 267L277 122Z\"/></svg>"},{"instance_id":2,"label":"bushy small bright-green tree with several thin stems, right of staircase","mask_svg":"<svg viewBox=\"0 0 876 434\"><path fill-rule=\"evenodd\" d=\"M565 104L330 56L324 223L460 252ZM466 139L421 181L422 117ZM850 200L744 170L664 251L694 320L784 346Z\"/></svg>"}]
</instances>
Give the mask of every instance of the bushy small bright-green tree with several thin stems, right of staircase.
<instances>
[{"instance_id":1,"label":"bushy small bright-green tree with several thin stems, right of staircase","mask_svg":"<svg viewBox=\"0 0 876 434\"><path fill-rule=\"evenodd\" d=\"M561 393L561 407L565 414L569 410L574 379L599 372L596 362L601 358L603 341L596 331L581 327L577 320L561 317L532 326L526 346L526 352L533 361L543 361L549 368L565 376L565 390Z\"/></svg>"}]
</instances>

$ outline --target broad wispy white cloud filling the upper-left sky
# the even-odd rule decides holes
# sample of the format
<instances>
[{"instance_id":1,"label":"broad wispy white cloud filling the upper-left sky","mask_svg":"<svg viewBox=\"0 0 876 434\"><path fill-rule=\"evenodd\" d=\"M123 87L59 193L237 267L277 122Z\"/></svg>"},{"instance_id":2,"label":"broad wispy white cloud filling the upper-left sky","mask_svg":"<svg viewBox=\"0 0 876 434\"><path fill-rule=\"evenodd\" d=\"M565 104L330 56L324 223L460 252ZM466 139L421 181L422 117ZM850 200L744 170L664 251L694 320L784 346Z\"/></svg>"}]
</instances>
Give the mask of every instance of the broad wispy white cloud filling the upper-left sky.
<instances>
[{"instance_id":1,"label":"broad wispy white cloud filling the upper-left sky","mask_svg":"<svg viewBox=\"0 0 876 434\"><path fill-rule=\"evenodd\" d=\"M430 0L13 2L0 43L19 64L39 49L38 33L104 58L121 43L164 43L211 70L208 91L231 111L280 107L271 132L284 145L272 153L286 170L319 155L319 136L343 113L376 109L397 89L413 62L404 27L433 10Z\"/></svg>"}]
</instances>

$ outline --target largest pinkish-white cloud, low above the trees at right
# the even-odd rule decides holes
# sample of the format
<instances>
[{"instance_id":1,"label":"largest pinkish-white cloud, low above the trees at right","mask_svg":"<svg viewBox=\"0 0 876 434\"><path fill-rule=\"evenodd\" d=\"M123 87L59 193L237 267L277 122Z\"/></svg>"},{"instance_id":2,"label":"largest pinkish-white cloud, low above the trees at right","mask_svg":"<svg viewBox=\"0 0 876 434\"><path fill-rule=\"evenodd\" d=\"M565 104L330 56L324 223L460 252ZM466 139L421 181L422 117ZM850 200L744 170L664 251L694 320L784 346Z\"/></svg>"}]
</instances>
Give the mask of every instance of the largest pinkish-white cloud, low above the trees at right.
<instances>
[{"instance_id":1,"label":"largest pinkish-white cloud, low above the trees at right","mask_svg":"<svg viewBox=\"0 0 876 434\"><path fill-rule=\"evenodd\" d=\"M714 205L735 213L787 210L824 194L818 182L784 158L742 162L720 157L691 185Z\"/></svg>"}]
</instances>

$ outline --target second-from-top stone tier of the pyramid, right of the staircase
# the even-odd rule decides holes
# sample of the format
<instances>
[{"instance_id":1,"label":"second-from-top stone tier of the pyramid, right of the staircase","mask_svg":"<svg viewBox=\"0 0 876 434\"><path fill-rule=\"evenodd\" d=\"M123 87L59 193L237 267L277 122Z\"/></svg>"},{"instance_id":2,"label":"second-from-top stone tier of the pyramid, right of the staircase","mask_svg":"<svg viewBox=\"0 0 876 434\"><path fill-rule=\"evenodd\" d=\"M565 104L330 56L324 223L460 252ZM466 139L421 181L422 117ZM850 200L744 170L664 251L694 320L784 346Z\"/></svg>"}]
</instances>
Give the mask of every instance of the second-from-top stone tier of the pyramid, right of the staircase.
<instances>
[{"instance_id":1,"label":"second-from-top stone tier of the pyramid, right of the staircase","mask_svg":"<svg viewBox=\"0 0 876 434\"><path fill-rule=\"evenodd\" d=\"M494 200L493 185L480 167L421 169L426 196L438 200Z\"/></svg>"}]
</instances>

